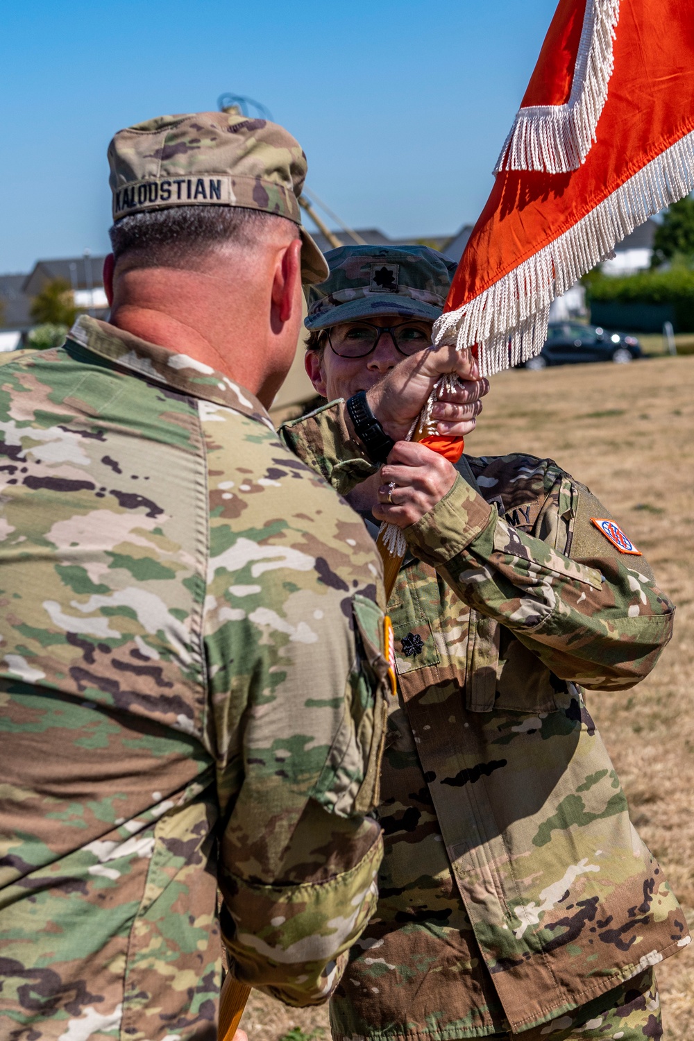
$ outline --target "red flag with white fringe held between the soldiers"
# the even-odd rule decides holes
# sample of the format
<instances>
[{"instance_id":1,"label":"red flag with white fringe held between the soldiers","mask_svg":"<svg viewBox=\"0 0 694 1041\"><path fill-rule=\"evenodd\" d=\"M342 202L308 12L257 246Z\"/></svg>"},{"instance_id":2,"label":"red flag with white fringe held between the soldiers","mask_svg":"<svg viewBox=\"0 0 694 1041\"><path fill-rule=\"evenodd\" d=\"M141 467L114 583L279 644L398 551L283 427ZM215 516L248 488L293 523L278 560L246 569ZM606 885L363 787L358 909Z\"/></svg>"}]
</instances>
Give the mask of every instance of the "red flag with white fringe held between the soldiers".
<instances>
[{"instance_id":1,"label":"red flag with white fringe held between the soldiers","mask_svg":"<svg viewBox=\"0 0 694 1041\"><path fill-rule=\"evenodd\" d=\"M560 0L435 326L484 374L539 354L549 304L694 188L693 0Z\"/></svg>"}]
</instances>

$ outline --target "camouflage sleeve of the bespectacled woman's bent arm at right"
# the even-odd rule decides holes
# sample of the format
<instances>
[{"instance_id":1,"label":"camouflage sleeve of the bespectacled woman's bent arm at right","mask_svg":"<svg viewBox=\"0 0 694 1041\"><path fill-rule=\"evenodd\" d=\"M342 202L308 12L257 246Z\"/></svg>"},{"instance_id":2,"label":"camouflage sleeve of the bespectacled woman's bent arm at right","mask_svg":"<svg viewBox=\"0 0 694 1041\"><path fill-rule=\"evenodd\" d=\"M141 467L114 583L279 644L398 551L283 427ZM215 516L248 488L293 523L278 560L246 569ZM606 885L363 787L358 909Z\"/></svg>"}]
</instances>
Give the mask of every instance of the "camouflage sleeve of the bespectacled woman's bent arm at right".
<instances>
[{"instance_id":1,"label":"camouflage sleeve of the bespectacled woman's bent arm at right","mask_svg":"<svg viewBox=\"0 0 694 1041\"><path fill-rule=\"evenodd\" d=\"M629 687L670 639L674 608L641 557L593 536L593 511L609 514L583 493L571 556L509 525L460 477L405 535L461 600L511 630L556 676Z\"/></svg>"}]
</instances>

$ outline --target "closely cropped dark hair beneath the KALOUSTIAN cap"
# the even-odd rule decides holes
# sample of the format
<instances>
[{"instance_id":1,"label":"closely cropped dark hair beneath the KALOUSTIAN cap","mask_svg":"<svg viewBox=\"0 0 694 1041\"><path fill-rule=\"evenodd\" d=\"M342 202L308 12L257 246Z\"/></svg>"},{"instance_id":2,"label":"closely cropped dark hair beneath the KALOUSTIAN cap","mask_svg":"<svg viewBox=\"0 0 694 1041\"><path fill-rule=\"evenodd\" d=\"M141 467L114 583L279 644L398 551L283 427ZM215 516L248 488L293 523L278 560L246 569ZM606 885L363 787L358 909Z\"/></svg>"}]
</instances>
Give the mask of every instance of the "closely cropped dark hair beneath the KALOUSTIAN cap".
<instances>
[{"instance_id":1,"label":"closely cropped dark hair beneath the KALOUSTIAN cap","mask_svg":"<svg viewBox=\"0 0 694 1041\"><path fill-rule=\"evenodd\" d=\"M172 206L124 217L110 228L118 262L128 256L139 268L186 268L191 256L215 246L253 247L277 230L299 228L285 217L241 206Z\"/></svg>"}]
</instances>

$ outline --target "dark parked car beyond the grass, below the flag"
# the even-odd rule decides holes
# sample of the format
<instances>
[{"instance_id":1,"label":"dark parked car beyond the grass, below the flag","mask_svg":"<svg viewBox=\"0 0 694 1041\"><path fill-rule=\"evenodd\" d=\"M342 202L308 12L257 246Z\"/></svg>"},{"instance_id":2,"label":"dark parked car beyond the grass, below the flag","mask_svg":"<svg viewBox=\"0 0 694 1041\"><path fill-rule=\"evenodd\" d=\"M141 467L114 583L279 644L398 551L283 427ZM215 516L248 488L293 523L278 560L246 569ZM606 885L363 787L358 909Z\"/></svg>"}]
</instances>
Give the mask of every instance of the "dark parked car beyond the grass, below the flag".
<instances>
[{"instance_id":1,"label":"dark parked car beyond the grass, below the flag","mask_svg":"<svg viewBox=\"0 0 694 1041\"><path fill-rule=\"evenodd\" d=\"M623 365L641 357L643 352L636 336L579 322L550 322L542 352L525 361L523 367L546 369L585 361L614 361Z\"/></svg>"}]
</instances>

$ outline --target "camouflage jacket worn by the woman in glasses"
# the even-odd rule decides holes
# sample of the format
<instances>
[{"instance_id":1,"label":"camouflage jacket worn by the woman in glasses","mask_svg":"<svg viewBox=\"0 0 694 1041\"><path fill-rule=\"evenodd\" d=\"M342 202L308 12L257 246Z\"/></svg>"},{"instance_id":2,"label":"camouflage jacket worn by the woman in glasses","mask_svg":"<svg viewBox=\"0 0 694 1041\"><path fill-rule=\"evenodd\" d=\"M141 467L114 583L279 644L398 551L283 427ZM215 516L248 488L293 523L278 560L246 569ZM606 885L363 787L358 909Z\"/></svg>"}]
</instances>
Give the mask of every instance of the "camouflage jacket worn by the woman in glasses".
<instances>
[{"instance_id":1,"label":"camouflage jacket worn by the woman in glasses","mask_svg":"<svg viewBox=\"0 0 694 1041\"><path fill-rule=\"evenodd\" d=\"M282 434L342 493L374 472L339 402ZM551 460L461 469L406 529L388 605L385 856L331 1002L338 1041L522 1032L689 942L582 690L644 677L673 608Z\"/></svg>"}]
</instances>

